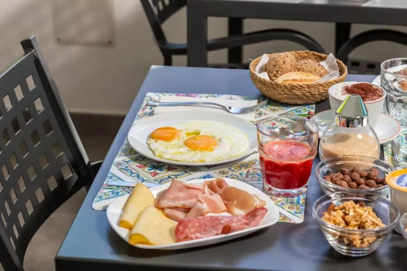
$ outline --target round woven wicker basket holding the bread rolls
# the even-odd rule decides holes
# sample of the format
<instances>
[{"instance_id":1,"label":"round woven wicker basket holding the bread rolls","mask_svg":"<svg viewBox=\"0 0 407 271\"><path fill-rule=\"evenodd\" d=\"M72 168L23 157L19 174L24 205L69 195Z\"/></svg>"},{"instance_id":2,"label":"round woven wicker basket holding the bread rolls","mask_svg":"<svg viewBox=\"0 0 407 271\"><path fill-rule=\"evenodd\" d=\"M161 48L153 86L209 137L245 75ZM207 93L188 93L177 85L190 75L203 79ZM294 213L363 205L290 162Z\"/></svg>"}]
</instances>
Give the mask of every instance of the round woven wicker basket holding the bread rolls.
<instances>
[{"instance_id":1,"label":"round woven wicker basket holding the bread rolls","mask_svg":"<svg viewBox=\"0 0 407 271\"><path fill-rule=\"evenodd\" d=\"M290 53L294 55L296 60L311 59L321 62L328 57L327 55L311 51L291 51ZM269 57L270 56L271 55L269 55ZM264 95L281 103L307 104L325 100L328 98L328 88L337 83L344 82L348 74L348 68L346 68L342 61L337 59L340 74L337 79L311 84L276 83L271 80L263 79L256 74L255 70L260 58L261 57L258 57L250 63L250 78Z\"/></svg>"}]
</instances>

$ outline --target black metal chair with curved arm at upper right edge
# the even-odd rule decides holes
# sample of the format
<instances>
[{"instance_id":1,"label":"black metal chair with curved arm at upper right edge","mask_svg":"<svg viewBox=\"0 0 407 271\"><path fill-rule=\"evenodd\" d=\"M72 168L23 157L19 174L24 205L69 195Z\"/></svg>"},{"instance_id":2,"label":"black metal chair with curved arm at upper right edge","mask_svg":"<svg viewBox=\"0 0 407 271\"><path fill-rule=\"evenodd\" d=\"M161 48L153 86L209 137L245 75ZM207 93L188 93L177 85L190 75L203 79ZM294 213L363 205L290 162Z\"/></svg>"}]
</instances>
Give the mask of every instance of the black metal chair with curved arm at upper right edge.
<instances>
[{"instance_id":1,"label":"black metal chair with curved arm at upper right edge","mask_svg":"<svg viewBox=\"0 0 407 271\"><path fill-rule=\"evenodd\" d=\"M349 59L349 54L354 49L363 44L375 41L388 41L407 45L407 34L387 29L366 31L345 42L338 50L336 57L346 63L350 73L378 74L380 73L381 62Z\"/></svg>"}]
</instances>

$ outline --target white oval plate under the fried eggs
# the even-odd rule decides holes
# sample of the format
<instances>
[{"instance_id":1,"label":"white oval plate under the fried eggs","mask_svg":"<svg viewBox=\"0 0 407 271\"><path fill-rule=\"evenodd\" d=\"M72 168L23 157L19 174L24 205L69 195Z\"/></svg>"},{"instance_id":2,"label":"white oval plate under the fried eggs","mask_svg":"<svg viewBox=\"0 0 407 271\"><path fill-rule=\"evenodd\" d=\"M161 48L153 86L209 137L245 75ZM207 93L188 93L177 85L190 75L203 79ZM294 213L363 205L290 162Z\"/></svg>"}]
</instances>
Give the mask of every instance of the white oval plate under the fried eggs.
<instances>
[{"instance_id":1,"label":"white oval plate under the fried eggs","mask_svg":"<svg viewBox=\"0 0 407 271\"><path fill-rule=\"evenodd\" d=\"M155 156L155 154L150 150L149 146L147 145L147 139L152 131L160 127L171 126L175 123L193 120L212 120L236 127L245 135L247 135L247 138L249 139L249 149L247 149L247 151L245 151L241 155L229 159L201 163L180 162L175 160L163 159ZM206 166L232 162L246 157L257 149L257 128L252 122L243 120L242 118L236 117L232 114L210 111L178 111L159 114L151 116L149 118L143 118L130 129L127 138L133 149L135 149L138 153L144 155L145 157L167 164L184 166Z\"/></svg>"}]
</instances>

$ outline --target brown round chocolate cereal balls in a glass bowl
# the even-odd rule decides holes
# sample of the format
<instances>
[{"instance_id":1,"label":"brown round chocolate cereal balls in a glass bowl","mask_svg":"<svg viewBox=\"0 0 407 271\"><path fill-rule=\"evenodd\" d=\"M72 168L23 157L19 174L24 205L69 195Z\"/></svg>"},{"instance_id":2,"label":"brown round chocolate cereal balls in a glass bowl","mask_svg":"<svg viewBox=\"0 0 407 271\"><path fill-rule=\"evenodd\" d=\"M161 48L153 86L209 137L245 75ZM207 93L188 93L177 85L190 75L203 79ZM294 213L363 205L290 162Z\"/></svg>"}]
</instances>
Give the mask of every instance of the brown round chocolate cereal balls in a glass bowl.
<instances>
[{"instance_id":1,"label":"brown round chocolate cereal balls in a glass bowl","mask_svg":"<svg viewBox=\"0 0 407 271\"><path fill-rule=\"evenodd\" d=\"M342 168L339 173L330 173L323 177L325 181L337 186L352 189L370 189L385 186L385 178L379 178L379 170L372 168L368 171L360 168Z\"/></svg>"}]
</instances>

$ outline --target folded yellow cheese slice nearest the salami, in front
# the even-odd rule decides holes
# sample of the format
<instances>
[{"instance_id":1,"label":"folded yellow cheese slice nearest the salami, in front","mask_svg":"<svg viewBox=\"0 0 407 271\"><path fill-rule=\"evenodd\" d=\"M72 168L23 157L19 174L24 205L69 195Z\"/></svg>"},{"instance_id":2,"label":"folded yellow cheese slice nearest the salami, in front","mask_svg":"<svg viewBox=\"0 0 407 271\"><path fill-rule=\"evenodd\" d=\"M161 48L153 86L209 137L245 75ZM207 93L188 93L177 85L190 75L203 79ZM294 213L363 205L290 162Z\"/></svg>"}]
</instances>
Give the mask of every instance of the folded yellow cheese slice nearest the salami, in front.
<instances>
[{"instance_id":1,"label":"folded yellow cheese slice nearest the salami, in front","mask_svg":"<svg viewBox=\"0 0 407 271\"><path fill-rule=\"evenodd\" d=\"M136 225L130 232L131 245L166 245L176 242L177 222L166 217L160 210L148 206L140 214Z\"/></svg>"}]
</instances>

